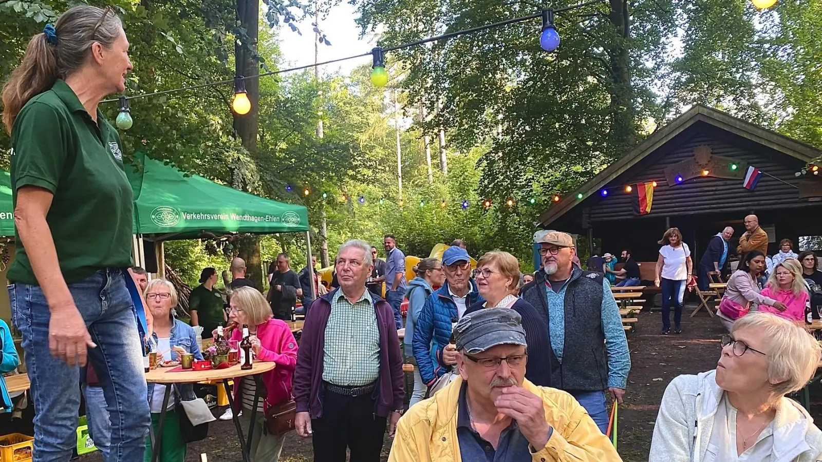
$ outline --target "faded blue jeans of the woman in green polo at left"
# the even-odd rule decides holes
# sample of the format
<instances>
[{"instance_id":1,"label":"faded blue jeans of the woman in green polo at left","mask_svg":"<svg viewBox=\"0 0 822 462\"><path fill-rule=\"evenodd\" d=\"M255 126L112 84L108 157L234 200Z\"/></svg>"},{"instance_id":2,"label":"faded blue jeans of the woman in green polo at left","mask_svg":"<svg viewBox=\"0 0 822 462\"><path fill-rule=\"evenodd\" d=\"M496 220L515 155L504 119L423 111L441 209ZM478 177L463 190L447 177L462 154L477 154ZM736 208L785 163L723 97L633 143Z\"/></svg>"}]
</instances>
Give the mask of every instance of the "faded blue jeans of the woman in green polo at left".
<instances>
[{"instance_id":1,"label":"faded blue jeans of the woman in green polo at left","mask_svg":"<svg viewBox=\"0 0 822 462\"><path fill-rule=\"evenodd\" d=\"M68 284L68 289L97 344L88 353L103 386L111 422L106 462L141 462L150 414L136 312L122 270L97 271ZM12 318L23 335L35 404L33 462L68 462L76 446L80 367L69 366L48 351L50 313L43 290L10 284L8 295Z\"/></svg>"}]
</instances>

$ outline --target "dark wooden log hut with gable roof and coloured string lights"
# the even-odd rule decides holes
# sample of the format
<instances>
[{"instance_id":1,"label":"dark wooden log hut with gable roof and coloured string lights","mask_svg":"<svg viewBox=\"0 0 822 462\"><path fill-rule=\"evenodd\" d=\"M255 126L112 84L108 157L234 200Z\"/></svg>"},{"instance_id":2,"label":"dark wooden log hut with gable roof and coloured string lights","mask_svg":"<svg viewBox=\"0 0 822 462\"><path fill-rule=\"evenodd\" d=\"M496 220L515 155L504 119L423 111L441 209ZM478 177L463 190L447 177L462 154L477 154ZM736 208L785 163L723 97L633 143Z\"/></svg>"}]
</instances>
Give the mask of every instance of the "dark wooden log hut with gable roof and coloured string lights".
<instances>
[{"instance_id":1,"label":"dark wooden log hut with gable roof and coloured string lights","mask_svg":"<svg viewBox=\"0 0 822 462\"><path fill-rule=\"evenodd\" d=\"M553 204L538 224L579 233L580 247L587 240L590 249L595 239L602 252L618 255L629 247L637 261L655 261L658 239L676 226L696 265L725 226L736 230L736 247L743 219L755 214L769 233L769 254L783 238L798 252L800 237L822 234L822 179L810 170L797 177L820 155L813 146L696 105ZM744 184L749 167L761 172L752 189Z\"/></svg>"}]
</instances>

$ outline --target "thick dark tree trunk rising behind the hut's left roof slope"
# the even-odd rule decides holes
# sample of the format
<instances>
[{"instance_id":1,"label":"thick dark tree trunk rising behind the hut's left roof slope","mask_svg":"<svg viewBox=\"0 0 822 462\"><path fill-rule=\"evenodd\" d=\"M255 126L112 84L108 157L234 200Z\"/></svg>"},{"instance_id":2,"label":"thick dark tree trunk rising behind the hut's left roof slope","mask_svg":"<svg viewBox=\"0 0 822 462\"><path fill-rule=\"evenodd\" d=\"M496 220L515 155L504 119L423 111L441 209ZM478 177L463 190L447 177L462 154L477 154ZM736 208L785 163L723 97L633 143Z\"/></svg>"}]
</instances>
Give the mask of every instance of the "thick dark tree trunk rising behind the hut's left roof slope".
<instances>
[{"instance_id":1,"label":"thick dark tree trunk rising behind the hut's left roof slope","mask_svg":"<svg viewBox=\"0 0 822 462\"><path fill-rule=\"evenodd\" d=\"M618 155L625 154L636 144L634 131L633 89L630 85L630 15L626 0L610 0L611 13L608 19L620 35L610 50L613 77L611 92L611 136Z\"/></svg>"}]
</instances>

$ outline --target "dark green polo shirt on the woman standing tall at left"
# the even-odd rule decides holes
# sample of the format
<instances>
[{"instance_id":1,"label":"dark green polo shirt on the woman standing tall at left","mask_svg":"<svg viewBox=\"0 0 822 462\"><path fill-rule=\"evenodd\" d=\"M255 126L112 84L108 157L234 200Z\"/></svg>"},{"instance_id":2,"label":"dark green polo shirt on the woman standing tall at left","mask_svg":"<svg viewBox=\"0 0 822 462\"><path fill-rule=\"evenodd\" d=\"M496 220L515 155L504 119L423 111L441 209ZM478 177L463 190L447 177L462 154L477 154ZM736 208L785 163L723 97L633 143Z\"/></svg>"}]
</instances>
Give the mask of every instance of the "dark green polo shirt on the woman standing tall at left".
<instances>
[{"instance_id":1,"label":"dark green polo shirt on the woman standing tall at left","mask_svg":"<svg viewBox=\"0 0 822 462\"><path fill-rule=\"evenodd\" d=\"M24 186L53 196L46 222L63 278L132 264L132 188L117 130L95 123L65 81L30 99L12 128L12 200ZM19 234L19 233L18 233ZM19 236L8 280L37 285Z\"/></svg>"}]
</instances>

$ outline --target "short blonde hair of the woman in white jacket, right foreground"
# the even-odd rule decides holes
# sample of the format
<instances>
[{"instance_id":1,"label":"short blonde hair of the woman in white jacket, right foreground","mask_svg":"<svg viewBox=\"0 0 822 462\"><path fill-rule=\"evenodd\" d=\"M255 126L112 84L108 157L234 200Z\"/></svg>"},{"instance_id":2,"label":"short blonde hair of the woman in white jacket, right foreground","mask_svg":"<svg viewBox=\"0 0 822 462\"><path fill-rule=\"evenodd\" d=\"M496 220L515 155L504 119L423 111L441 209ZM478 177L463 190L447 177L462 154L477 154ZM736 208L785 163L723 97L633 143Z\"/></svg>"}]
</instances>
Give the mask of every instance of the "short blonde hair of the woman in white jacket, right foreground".
<instances>
[{"instance_id":1,"label":"short blonde hair of the woman in white jacket, right foreground","mask_svg":"<svg viewBox=\"0 0 822 462\"><path fill-rule=\"evenodd\" d=\"M810 381L820 362L820 344L804 327L769 312L751 312L733 323L738 330L761 330L768 344L768 377L779 381L772 386L774 395L801 390Z\"/></svg>"}]
</instances>

